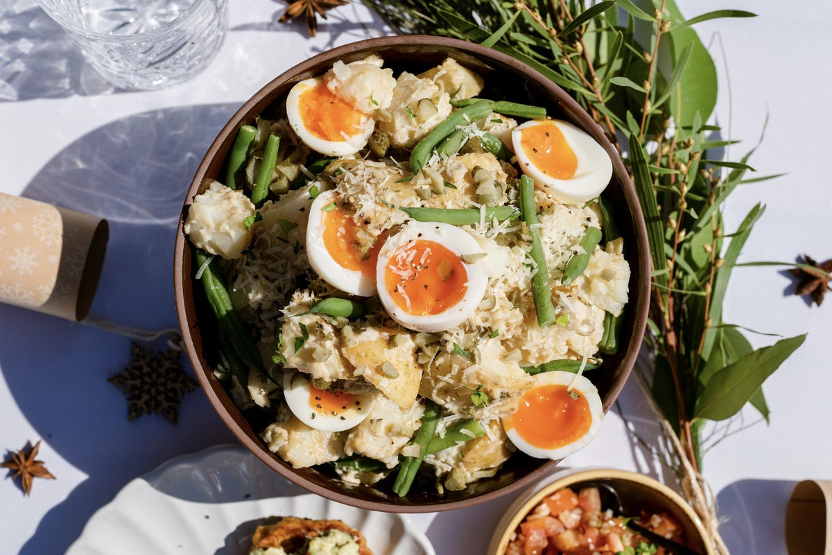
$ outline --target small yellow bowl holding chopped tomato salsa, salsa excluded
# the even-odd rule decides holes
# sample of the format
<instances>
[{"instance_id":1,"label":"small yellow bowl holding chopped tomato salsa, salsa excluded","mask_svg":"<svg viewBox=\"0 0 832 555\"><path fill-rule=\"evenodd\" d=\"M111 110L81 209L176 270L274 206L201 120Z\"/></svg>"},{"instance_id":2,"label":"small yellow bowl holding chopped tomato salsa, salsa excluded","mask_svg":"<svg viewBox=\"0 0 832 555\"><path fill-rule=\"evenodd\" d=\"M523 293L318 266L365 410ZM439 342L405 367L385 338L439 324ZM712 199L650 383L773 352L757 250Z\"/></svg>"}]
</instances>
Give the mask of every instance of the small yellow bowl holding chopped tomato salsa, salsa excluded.
<instances>
[{"instance_id":1,"label":"small yellow bowl holding chopped tomato salsa, salsa excluded","mask_svg":"<svg viewBox=\"0 0 832 555\"><path fill-rule=\"evenodd\" d=\"M716 555L711 543L706 541L707 533L701 520L681 496L661 482L644 474L595 468L592 470L566 469L554 473L551 478L538 483L528 493L520 496L503 515L496 532L488 544L487 555L503 555L514 531L522 519L552 493L585 482L608 483L617 490L623 501L630 501L648 511L671 514L681 523L686 544L703 555Z\"/></svg>"}]
</instances>

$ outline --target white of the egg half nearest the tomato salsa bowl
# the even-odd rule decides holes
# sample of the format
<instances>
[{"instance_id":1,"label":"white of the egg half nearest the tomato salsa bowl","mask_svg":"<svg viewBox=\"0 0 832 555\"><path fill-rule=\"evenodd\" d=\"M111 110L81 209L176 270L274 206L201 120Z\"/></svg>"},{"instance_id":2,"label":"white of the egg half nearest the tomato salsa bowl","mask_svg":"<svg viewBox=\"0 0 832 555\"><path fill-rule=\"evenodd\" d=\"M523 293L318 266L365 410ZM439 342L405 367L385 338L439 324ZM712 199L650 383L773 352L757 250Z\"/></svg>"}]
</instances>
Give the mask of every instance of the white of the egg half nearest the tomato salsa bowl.
<instances>
[{"instance_id":1,"label":"white of the egg half nearest the tomato salsa bowl","mask_svg":"<svg viewBox=\"0 0 832 555\"><path fill-rule=\"evenodd\" d=\"M592 439L595 439L598 432L601 431L601 424L604 419L601 397L598 395L598 390L595 385L583 375L562 371L542 372L541 374L534 376L534 379L535 384L531 389L527 389L527 392L534 388L540 387L541 385L571 385L570 389L578 394L582 394L584 399L587 399L589 412L592 416L592 423L590 424L587 433L581 438L578 438L576 441L572 442L572 444L563 445L562 447L553 449L539 448L535 445L529 444L520 434L518 434L516 428L506 430L508 439L511 439L515 447L530 457L551 458L552 460L565 458L572 453L577 453L577 451L585 448L588 444L590 444L590 442L592 442ZM520 402L522 403L522 399ZM544 417L541 415L541 418Z\"/></svg>"}]
</instances>

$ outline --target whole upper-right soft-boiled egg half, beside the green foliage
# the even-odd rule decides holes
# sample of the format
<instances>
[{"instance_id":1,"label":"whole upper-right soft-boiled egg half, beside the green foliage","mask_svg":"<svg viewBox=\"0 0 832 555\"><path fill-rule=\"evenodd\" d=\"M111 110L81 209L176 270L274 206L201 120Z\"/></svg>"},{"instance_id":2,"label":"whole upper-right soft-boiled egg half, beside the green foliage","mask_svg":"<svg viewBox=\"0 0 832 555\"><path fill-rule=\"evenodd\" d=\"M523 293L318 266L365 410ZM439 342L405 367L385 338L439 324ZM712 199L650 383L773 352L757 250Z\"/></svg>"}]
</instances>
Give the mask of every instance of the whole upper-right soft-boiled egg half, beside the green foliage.
<instances>
[{"instance_id":1,"label":"whole upper-right soft-boiled egg half, beside the green foliage","mask_svg":"<svg viewBox=\"0 0 832 555\"><path fill-rule=\"evenodd\" d=\"M594 199L612 177L603 146L567 121L527 121L512 131L512 144L523 173L564 204Z\"/></svg>"}]
</instances>

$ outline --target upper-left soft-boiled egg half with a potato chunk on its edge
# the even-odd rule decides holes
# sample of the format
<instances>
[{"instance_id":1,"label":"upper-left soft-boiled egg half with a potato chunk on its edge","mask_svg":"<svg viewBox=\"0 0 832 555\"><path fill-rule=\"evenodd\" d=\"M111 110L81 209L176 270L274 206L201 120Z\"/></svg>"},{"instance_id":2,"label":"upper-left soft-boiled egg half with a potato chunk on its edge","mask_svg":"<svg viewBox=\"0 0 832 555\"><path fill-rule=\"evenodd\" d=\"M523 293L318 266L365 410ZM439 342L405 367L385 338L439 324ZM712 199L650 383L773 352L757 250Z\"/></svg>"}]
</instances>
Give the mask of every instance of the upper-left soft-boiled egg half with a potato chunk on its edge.
<instances>
[{"instance_id":1,"label":"upper-left soft-boiled egg half with a potato chunk on its edge","mask_svg":"<svg viewBox=\"0 0 832 555\"><path fill-rule=\"evenodd\" d=\"M305 79L286 97L286 116L295 133L313 151L348 156L366 146L375 121L326 87L323 77Z\"/></svg>"}]
</instances>

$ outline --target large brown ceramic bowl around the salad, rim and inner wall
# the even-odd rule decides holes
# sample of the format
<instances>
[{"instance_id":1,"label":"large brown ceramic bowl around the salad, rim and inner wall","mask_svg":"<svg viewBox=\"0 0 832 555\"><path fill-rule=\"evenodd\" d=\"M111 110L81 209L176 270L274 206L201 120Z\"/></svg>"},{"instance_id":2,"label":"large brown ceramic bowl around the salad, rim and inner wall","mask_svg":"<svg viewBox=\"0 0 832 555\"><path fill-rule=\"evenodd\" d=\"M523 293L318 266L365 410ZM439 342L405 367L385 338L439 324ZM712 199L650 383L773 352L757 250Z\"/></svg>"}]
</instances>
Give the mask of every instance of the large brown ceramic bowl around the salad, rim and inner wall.
<instances>
[{"instance_id":1,"label":"large brown ceramic bowl around the salad, rim and inner wall","mask_svg":"<svg viewBox=\"0 0 832 555\"><path fill-rule=\"evenodd\" d=\"M182 232L182 221L185 220L191 201L207 188L210 181L221 175L225 157L240 126L252 123L255 116L268 109L273 102L283 100L295 82L326 72L336 60L352 62L371 53L383 57L385 67L393 67L396 74L404 70L422 72L438 65L445 57L452 56L485 77L487 88L483 91L483 97L503 95L518 102L546 106L549 114L572 121L594 136L610 153L613 177L604 196L616 207L626 257L631 265L630 302L625 309L626 336L622 338L618 354L605 359L604 368L592 375L601 394L604 410L612 406L636 360L646 325L650 265L646 230L635 189L610 142L567 92L512 57L470 42L420 36L383 37L354 42L300 63L245 102L208 149L182 208L174 260L176 310L188 356L210 403L240 442L277 473L325 498L357 507L403 513L428 513L466 507L527 487L551 472L557 462L528 458L518 453L496 476L480 480L463 491L444 495L431 491L414 491L406 498L399 498L389 488L387 491L379 491L371 487L350 487L340 483L325 470L292 468L266 448L257 435L262 427L245 419L225 393L220 381L215 379L211 370L216 359L217 344L214 317L210 314L201 286L193 279L196 268L192 249ZM203 323L206 325L203 326Z\"/></svg>"}]
</instances>

